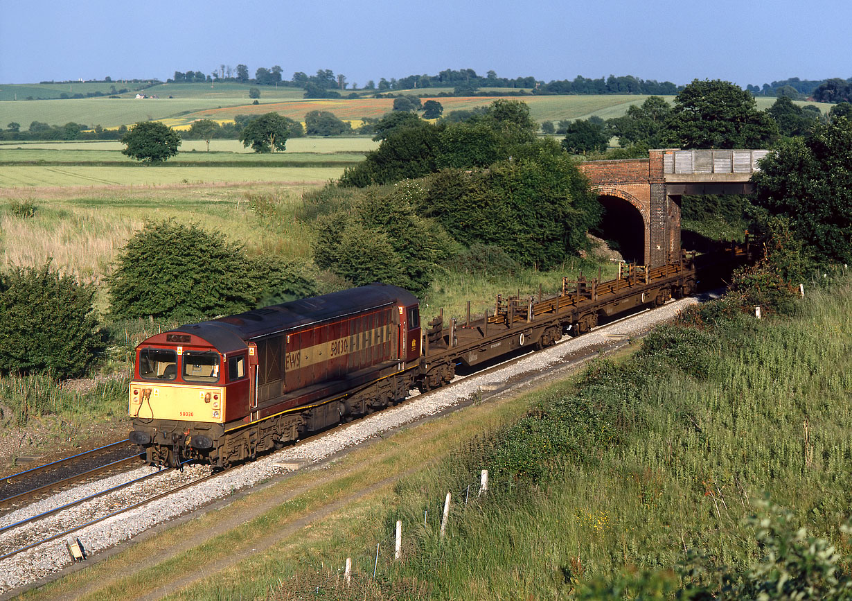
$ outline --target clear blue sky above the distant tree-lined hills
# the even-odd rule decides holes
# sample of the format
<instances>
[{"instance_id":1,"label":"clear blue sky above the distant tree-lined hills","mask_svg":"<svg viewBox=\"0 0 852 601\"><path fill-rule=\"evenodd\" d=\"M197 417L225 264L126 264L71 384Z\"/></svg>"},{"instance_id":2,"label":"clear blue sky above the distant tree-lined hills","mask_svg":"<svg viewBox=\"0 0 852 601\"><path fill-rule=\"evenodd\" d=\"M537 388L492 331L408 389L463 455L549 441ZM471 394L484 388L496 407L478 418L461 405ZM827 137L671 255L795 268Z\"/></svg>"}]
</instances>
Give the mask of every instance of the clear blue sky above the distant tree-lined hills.
<instances>
[{"instance_id":1,"label":"clear blue sky above the distant tree-lined hills","mask_svg":"<svg viewBox=\"0 0 852 601\"><path fill-rule=\"evenodd\" d=\"M849 0L0 0L0 84L219 65L348 83L472 68L544 81L852 77Z\"/></svg>"}]
</instances>

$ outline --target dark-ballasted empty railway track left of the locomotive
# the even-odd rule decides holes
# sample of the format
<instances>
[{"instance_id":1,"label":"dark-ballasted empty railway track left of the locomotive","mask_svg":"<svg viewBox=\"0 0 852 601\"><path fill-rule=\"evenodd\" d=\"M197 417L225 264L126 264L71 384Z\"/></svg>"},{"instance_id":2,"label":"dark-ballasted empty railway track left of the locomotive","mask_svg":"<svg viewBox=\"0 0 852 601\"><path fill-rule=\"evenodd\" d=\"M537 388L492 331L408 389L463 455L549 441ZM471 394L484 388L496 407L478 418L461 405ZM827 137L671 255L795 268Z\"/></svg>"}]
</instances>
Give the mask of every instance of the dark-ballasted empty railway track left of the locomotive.
<instances>
[{"instance_id":1,"label":"dark-ballasted empty railway track left of the locomotive","mask_svg":"<svg viewBox=\"0 0 852 601\"><path fill-rule=\"evenodd\" d=\"M135 445L125 439L3 478L0 516L60 492L74 484L141 465Z\"/></svg>"}]
</instances>

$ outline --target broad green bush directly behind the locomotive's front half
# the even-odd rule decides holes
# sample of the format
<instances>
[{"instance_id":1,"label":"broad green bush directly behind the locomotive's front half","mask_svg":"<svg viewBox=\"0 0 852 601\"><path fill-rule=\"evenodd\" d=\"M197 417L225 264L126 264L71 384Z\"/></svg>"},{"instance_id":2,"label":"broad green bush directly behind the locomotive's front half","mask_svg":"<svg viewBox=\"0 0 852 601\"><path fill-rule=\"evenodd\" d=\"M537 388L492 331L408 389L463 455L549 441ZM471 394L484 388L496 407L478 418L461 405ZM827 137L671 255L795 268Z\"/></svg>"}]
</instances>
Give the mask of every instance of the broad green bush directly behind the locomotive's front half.
<instances>
[{"instance_id":1,"label":"broad green bush directly behind the locomotive's front half","mask_svg":"<svg viewBox=\"0 0 852 601\"><path fill-rule=\"evenodd\" d=\"M300 271L277 257L249 257L223 234L171 221L147 222L130 238L108 284L112 315L182 322L314 292Z\"/></svg>"}]
</instances>

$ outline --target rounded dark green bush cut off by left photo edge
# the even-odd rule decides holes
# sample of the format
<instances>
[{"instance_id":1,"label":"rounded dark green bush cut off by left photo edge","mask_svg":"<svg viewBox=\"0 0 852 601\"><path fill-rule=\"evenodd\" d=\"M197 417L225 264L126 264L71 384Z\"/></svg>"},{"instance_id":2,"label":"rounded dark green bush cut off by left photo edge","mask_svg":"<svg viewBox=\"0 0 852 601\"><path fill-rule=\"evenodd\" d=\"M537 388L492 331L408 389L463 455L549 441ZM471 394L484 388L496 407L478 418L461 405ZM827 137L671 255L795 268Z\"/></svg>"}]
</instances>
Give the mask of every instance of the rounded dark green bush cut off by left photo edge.
<instances>
[{"instance_id":1,"label":"rounded dark green bush cut off by left photo edge","mask_svg":"<svg viewBox=\"0 0 852 601\"><path fill-rule=\"evenodd\" d=\"M94 286L49 263L0 274L0 373L87 373L103 350L94 296Z\"/></svg>"}]
</instances>

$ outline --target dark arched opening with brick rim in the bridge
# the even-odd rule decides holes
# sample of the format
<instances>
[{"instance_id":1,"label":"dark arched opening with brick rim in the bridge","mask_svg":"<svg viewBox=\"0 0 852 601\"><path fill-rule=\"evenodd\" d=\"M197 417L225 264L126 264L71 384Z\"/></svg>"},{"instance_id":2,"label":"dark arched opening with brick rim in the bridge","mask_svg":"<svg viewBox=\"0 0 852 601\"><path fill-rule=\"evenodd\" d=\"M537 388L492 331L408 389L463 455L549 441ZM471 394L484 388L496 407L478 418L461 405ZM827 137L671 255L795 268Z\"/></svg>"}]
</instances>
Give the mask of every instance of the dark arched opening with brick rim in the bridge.
<instances>
[{"instance_id":1,"label":"dark arched opening with brick rim in the bridge","mask_svg":"<svg viewBox=\"0 0 852 601\"><path fill-rule=\"evenodd\" d=\"M605 240L617 241L619 252L628 263L647 265L651 229L648 202L618 186L598 185L590 189L604 210L598 233Z\"/></svg>"}]
</instances>

